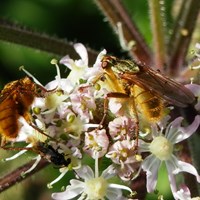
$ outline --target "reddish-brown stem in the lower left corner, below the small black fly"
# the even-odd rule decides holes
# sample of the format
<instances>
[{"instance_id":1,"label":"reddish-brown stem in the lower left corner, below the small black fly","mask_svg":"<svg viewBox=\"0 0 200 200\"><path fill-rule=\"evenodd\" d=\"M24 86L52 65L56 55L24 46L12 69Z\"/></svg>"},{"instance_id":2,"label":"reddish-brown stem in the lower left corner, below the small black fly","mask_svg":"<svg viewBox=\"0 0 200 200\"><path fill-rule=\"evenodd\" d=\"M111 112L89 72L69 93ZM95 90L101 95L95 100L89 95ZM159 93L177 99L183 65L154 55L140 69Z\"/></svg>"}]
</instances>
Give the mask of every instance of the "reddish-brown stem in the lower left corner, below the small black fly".
<instances>
[{"instance_id":1,"label":"reddish-brown stem in the lower left corner, below the small black fly","mask_svg":"<svg viewBox=\"0 0 200 200\"><path fill-rule=\"evenodd\" d=\"M49 162L47 162L46 160L41 160L39 164L35 167L35 169L33 169L30 173L26 174L25 178L22 177L21 176L22 172L25 172L28 169L30 169L30 167L33 165L34 162L35 161L31 161L2 177L0 179L0 193L12 187L16 183L19 183L24 179L28 178L29 176L35 174L36 172L45 168L49 164Z\"/></svg>"}]
</instances>

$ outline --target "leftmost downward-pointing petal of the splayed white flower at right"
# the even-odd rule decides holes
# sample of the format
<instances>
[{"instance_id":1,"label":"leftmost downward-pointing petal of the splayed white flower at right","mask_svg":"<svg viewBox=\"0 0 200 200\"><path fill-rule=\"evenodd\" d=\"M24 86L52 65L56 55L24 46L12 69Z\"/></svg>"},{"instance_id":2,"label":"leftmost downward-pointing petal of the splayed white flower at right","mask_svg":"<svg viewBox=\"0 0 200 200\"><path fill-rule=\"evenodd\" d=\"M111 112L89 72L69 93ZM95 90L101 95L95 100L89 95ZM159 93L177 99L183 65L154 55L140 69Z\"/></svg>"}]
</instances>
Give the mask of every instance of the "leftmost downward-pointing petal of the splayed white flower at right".
<instances>
[{"instance_id":1,"label":"leftmost downward-pointing petal of the splayed white flower at right","mask_svg":"<svg viewBox=\"0 0 200 200\"><path fill-rule=\"evenodd\" d=\"M145 158L142 162L142 169L146 171L147 175L147 191L153 192L156 187L158 168L160 167L161 161L154 155L150 155Z\"/></svg>"}]
</instances>

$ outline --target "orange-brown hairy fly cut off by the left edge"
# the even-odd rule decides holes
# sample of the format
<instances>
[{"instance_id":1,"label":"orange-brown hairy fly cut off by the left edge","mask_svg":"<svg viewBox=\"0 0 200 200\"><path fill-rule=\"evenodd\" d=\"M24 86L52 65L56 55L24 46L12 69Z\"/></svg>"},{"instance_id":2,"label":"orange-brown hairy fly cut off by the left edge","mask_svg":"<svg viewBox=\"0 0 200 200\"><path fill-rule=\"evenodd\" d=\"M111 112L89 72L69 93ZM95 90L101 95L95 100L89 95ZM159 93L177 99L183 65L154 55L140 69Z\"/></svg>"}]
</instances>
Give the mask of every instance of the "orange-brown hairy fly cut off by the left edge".
<instances>
[{"instance_id":1,"label":"orange-brown hairy fly cut off by the left edge","mask_svg":"<svg viewBox=\"0 0 200 200\"><path fill-rule=\"evenodd\" d=\"M29 107L36 96L42 95L40 89L45 90L28 76L5 85L0 93L0 133L3 142L18 136L20 116L31 125Z\"/></svg>"}]
</instances>

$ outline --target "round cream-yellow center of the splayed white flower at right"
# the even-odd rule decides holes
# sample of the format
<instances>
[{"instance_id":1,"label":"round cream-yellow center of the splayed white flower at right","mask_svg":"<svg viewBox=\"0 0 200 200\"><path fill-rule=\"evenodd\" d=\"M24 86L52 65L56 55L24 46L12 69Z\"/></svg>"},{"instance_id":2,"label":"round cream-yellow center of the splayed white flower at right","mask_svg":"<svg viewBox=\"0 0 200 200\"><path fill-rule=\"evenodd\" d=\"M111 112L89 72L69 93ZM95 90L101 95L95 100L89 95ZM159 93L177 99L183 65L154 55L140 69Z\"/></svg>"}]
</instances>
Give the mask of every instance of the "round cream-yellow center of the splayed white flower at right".
<instances>
[{"instance_id":1,"label":"round cream-yellow center of the splayed white flower at right","mask_svg":"<svg viewBox=\"0 0 200 200\"><path fill-rule=\"evenodd\" d=\"M160 160L168 160L172 155L173 145L165 137L158 136L151 142L149 149Z\"/></svg>"}]
</instances>

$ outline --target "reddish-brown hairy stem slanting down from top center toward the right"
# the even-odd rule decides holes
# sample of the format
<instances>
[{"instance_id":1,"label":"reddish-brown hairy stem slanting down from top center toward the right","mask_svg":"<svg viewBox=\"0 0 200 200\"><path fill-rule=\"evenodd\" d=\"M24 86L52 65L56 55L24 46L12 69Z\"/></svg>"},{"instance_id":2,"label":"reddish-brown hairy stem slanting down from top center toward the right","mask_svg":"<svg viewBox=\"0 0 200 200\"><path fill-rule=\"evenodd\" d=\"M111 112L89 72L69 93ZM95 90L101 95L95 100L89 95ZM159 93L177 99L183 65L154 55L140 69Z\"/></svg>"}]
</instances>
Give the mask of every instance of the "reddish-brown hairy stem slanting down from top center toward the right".
<instances>
[{"instance_id":1,"label":"reddish-brown hairy stem slanting down from top center toward the right","mask_svg":"<svg viewBox=\"0 0 200 200\"><path fill-rule=\"evenodd\" d=\"M136 25L128 15L120 0L96 0L97 5L101 8L105 16L107 16L113 29L116 29L118 22L122 23L122 29L125 40L127 42L135 42L134 48L129 52L132 57L136 57L147 65L152 64L151 51L147 47L144 38L138 31Z\"/></svg>"}]
</instances>

